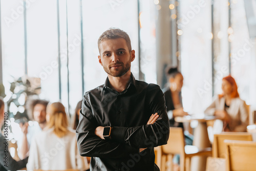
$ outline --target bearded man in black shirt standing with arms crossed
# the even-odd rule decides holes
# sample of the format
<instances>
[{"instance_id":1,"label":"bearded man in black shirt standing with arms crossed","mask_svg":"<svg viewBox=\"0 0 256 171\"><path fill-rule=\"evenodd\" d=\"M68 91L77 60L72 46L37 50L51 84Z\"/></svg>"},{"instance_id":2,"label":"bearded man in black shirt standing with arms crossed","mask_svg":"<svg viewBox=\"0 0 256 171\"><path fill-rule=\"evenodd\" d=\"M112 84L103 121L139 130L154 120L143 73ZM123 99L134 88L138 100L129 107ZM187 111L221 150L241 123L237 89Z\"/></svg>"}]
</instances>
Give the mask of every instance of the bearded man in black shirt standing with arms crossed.
<instances>
[{"instance_id":1,"label":"bearded man in black shirt standing with arms crossed","mask_svg":"<svg viewBox=\"0 0 256 171\"><path fill-rule=\"evenodd\" d=\"M135 51L127 33L111 28L98 40L105 83L83 95L76 129L81 156L90 170L159 170L154 147L167 143L164 95L156 84L135 80Z\"/></svg>"}]
</instances>

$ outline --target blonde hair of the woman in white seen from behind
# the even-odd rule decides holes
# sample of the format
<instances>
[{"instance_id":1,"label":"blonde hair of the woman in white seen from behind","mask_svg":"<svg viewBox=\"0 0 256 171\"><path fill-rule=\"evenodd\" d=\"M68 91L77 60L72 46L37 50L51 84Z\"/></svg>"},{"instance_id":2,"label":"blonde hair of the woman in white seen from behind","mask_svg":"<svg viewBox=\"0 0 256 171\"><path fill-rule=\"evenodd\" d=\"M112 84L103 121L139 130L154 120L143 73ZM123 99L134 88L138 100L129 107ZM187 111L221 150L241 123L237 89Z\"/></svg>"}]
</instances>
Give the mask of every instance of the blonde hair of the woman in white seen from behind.
<instances>
[{"instance_id":1,"label":"blonde hair of the woman in white seen from behind","mask_svg":"<svg viewBox=\"0 0 256 171\"><path fill-rule=\"evenodd\" d=\"M47 115L49 115L49 121L47 121L47 128L54 127L54 134L57 137L65 136L68 130L68 118L65 112L65 106L60 102L55 102L47 106Z\"/></svg>"}]
</instances>

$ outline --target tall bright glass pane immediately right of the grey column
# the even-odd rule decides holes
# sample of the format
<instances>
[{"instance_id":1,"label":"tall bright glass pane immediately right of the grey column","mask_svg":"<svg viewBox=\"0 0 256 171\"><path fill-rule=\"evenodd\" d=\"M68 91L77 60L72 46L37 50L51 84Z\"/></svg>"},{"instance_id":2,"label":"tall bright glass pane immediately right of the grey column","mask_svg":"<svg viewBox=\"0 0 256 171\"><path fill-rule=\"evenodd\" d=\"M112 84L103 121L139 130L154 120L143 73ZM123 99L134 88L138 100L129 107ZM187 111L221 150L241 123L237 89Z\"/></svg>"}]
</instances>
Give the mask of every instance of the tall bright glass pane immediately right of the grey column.
<instances>
[{"instance_id":1,"label":"tall bright glass pane immediately right of the grey column","mask_svg":"<svg viewBox=\"0 0 256 171\"><path fill-rule=\"evenodd\" d=\"M211 4L208 1L180 1L178 5L184 110L203 114L212 100Z\"/></svg>"}]
</instances>

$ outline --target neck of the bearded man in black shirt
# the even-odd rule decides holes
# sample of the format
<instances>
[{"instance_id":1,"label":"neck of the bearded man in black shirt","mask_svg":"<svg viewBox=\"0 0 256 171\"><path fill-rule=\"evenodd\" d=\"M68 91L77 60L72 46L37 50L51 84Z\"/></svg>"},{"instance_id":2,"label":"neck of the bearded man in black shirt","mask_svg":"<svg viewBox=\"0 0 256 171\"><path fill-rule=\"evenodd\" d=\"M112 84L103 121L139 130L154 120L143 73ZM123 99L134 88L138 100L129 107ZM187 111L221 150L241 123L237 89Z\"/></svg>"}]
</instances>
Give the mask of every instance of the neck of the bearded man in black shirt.
<instances>
[{"instance_id":1,"label":"neck of the bearded man in black shirt","mask_svg":"<svg viewBox=\"0 0 256 171\"><path fill-rule=\"evenodd\" d=\"M113 77L108 74L109 81L110 81L110 88L121 93L128 87L128 83L131 77L131 71L127 71L121 77Z\"/></svg>"}]
</instances>

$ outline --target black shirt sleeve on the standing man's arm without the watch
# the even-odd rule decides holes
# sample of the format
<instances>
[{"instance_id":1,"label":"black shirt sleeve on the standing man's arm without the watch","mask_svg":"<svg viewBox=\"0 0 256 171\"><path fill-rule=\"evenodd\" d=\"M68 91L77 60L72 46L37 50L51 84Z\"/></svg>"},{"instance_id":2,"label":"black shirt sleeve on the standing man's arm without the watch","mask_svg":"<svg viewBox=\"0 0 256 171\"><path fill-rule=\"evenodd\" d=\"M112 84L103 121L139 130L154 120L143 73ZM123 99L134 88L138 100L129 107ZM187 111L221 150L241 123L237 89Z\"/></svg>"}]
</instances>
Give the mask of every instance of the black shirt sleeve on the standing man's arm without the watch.
<instances>
[{"instance_id":1,"label":"black shirt sleeve on the standing man's arm without the watch","mask_svg":"<svg viewBox=\"0 0 256 171\"><path fill-rule=\"evenodd\" d=\"M138 148L124 143L103 140L94 134L98 124L93 117L88 96L88 94L83 96L79 124L76 129L79 154L87 157L120 158L138 153Z\"/></svg>"}]
</instances>

